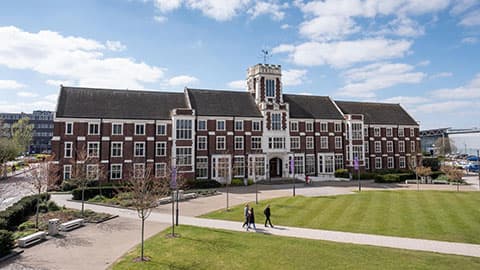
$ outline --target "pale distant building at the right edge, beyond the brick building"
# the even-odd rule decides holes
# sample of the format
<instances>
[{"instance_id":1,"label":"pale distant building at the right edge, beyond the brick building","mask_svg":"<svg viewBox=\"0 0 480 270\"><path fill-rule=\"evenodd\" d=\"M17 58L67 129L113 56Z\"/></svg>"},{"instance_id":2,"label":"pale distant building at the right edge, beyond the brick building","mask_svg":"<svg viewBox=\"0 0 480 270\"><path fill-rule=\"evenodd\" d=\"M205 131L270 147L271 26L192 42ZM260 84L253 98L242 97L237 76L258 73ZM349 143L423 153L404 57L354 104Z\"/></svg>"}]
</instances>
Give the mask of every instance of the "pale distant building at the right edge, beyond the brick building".
<instances>
[{"instance_id":1,"label":"pale distant building at the right edge, beyond the brick building","mask_svg":"<svg viewBox=\"0 0 480 270\"><path fill-rule=\"evenodd\" d=\"M480 129L453 129L453 128L439 128L420 131L422 151L438 153L442 149L442 143L449 140L454 153L452 154L467 154L476 155L477 150L480 149ZM439 144L439 145L436 145ZM448 153L446 153L448 154Z\"/></svg>"}]
</instances>

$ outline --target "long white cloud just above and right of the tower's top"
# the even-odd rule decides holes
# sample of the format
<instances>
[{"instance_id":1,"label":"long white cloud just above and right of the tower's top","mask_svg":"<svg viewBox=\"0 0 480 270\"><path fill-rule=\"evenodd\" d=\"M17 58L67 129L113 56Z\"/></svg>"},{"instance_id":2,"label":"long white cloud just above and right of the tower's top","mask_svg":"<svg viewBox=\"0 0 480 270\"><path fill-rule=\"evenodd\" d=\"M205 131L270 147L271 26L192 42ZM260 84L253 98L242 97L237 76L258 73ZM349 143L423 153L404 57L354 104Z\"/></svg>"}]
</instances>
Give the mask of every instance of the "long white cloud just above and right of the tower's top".
<instances>
[{"instance_id":1,"label":"long white cloud just above and right of the tower's top","mask_svg":"<svg viewBox=\"0 0 480 270\"><path fill-rule=\"evenodd\" d=\"M360 62L402 57L411 45L412 42L407 40L376 38L329 43L306 42L298 46L282 44L272 52L289 52L290 60L297 65L342 68Z\"/></svg>"}]
</instances>

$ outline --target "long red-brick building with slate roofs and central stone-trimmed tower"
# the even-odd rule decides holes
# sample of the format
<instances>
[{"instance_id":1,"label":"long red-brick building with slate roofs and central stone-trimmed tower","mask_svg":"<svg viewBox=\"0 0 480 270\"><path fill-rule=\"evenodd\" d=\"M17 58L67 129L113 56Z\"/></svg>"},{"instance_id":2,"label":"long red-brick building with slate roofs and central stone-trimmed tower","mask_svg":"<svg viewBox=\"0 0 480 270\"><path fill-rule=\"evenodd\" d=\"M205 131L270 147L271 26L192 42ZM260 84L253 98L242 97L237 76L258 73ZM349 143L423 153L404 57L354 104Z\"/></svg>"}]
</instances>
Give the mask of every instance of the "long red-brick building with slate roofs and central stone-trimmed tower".
<instances>
[{"instance_id":1,"label":"long red-brick building with slate roofs and central stone-trimmed tower","mask_svg":"<svg viewBox=\"0 0 480 270\"><path fill-rule=\"evenodd\" d=\"M281 67L258 64L247 71L246 92L62 86L52 151L64 179L78 149L95 161L87 170L108 172L102 180L147 166L162 177L170 164L186 177L221 182L226 174L331 178L335 169L351 169L355 157L365 171L418 162L418 130L399 104L283 94Z\"/></svg>"}]
</instances>

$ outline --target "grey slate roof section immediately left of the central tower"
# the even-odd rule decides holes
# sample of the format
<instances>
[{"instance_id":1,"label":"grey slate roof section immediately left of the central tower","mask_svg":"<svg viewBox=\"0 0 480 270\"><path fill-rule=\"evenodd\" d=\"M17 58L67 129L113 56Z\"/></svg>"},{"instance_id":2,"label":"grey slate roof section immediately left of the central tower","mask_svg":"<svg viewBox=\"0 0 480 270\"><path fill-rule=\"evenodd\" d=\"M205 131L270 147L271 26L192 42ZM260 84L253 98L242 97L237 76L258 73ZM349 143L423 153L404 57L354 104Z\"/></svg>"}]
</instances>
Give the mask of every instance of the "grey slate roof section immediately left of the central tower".
<instances>
[{"instance_id":1,"label":"grey slate roof section immediately left of the central tower","mask_svg":"<svg viewBox=\"0 0 480 270\"><path fill-rule=\"evenodd\" d=\"M248 92L186 89L192 109L200 116L262 117Z\"/></svg>"}]
</instances>

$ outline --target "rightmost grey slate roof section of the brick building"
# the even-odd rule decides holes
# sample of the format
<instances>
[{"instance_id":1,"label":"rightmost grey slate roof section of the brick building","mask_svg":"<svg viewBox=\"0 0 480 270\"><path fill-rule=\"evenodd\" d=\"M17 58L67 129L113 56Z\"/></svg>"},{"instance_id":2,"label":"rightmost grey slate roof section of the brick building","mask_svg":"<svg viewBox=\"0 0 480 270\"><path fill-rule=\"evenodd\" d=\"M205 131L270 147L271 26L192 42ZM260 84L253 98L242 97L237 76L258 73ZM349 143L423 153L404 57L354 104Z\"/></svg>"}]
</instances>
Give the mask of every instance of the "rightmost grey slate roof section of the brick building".
<instances>
[{"instance_id":1,"label":"rightmost grey slate roof section of the brick building","mask_svg":"<svg viewBox=\"0 0 480 270\"><path fill-rule=\"evenodd\" d=\"M345 114L363 114L366 124L418 125L400 104L353 101L335 103Z\"/></svg>"}]
</instances>

